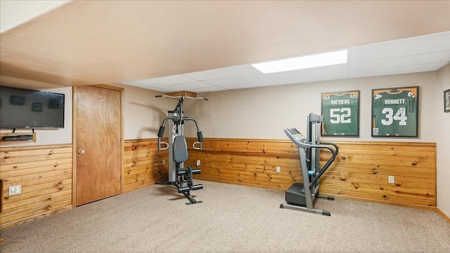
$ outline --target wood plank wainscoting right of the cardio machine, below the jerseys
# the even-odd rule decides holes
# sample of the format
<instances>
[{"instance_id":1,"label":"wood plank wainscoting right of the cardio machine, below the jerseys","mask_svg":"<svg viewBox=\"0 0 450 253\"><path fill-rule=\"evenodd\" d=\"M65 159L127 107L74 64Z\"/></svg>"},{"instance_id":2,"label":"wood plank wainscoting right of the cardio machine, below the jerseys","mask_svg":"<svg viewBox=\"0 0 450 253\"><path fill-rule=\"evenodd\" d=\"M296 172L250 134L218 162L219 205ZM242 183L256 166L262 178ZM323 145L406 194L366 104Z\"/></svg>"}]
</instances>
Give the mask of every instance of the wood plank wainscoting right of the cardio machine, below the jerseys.
<instances>
[{"instance_id":1,"label":"wood plank wainscoting right of the cardio machine, below the jerseys","mask_svg":"<svg viewBox=\"0 0 450 253\"><path fill-rule=\"evenodd\" d=\"M339 146L338 162L324 174L322 193L435 209L435 143L342 142ZM388 176L394 176L394 184L388 183Z\"/></svg>"}]
</instances>

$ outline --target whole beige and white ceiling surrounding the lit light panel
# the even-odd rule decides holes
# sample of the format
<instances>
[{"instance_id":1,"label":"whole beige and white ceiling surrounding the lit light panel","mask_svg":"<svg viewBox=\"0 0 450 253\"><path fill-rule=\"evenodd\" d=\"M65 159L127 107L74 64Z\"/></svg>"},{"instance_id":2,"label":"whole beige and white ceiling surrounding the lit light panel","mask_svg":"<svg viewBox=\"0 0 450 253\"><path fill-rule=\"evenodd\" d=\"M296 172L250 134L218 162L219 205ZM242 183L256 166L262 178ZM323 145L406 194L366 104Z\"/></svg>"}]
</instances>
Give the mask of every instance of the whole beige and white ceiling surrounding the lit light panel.
<instances>
[{"instance_id":1,"label":"whole beige and white ceiling surrounding the lit light panel","mask_svg":"<svg viewBox=\"0 0 450 253\"><path fill-rule=\"evenodd\" d=\"M2 84L201 93L435 71L450 61L449 1L70 1L34 17L1 29ZM340 49L347 64L272 74L251 66Z\"/></svg>"}]
</instances>

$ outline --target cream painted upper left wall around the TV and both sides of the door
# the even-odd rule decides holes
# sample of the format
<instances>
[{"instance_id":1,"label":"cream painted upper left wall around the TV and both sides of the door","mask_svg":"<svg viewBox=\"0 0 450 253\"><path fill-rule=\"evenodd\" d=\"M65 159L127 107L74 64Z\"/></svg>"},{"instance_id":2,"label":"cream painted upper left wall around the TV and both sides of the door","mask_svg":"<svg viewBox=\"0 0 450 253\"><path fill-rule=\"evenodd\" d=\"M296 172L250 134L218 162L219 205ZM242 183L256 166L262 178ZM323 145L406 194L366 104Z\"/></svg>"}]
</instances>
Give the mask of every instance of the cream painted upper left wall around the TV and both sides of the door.
<instances>
[{"instance_id":1,"label":"cream painted upper left wall around the TV and both sides of the door","mask_svg":"<svg viewBox=\"0 0 450 253\"><path fill-rule=\"evenodd\" d=\"M4 86L31 88L27 87L27 83L30 83L30 81L26 79L2 76L1 81L1 85ZM72 144L72 87L53 88L57 85L39 83L37 81L32 82L32 89L65 94L65 127L60 129L36 129L37 142L29 142L27 144L2 142L1 146ZM178 100L164 97L157 98L155 95L164 93L154 90L126 86L121 83L110 85L124 88L124 139L158 137L160 124L167 117L167 111L172 111ZM186 101L186 104L190 103L191 101ZM0 132L11 132L11 130L1 129ZM29 133L30 130L18 129L16 132ZM167 132L166 130L165 136L167 136Z\"/></svg>"}]
</instances>

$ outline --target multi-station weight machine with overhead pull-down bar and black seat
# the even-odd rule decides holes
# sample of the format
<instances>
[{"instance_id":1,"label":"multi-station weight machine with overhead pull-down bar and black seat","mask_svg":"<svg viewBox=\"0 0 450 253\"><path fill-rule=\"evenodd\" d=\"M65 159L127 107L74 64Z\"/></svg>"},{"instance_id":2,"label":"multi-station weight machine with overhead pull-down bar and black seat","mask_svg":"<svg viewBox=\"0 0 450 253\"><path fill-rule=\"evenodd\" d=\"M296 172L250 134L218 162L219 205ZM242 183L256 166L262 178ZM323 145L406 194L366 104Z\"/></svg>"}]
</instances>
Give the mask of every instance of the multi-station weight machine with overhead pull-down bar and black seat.
<instances>
[{"instance_id":1,"label":"multi-station weight machine with overhead pull-down bar and black seat","mask_svg":"<svg viewBox=\"0 0 450 253\"><path fill-rule=\"evenodd\" d=\"M169 180L166 182L157 182L156 184L174 185L178 189L179 193L183 193L188 198L191 205L195 203L202 203L197 201L191 196L191 191L203 189L203 184L193 184L193 175L200 174L200 169L193 169L191 165L187 168L184 167L184 162L188 160L188 145L186 138L184 137L184 123L186 121L193 121L197 128L198 142L193 143L193 148L201 150L203 135L200 132L197 121L194 118L184 116L183 102L184 100L207 100L203 97L187 97L186 95L170 96L170 95L158 95L155 97L169 97L178 98L178 104L174 111L169 111L169 116L165 118L158 131L158 151L169 149ZM168 142L161 142L162 135L165 131L165 123L169 122L169 138ZM165 145L164 147L162 145Z\"/></svg>"}]
</instances>

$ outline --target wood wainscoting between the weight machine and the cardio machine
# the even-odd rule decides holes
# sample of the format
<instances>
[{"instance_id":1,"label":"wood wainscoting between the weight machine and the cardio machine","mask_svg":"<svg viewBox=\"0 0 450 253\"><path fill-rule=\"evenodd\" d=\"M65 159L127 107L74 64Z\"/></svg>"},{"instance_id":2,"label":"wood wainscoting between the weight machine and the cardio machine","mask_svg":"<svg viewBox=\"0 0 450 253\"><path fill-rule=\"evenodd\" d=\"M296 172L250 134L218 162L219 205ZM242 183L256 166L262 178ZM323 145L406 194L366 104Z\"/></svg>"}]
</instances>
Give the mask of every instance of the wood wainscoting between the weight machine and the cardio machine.
<instances>
[{"instance_id":1,"label":"wood wainscoting between the weight machine and the cardio machine","mask_svg":"<svg viewBox=\"0 0 450 253\"><path fill-rule=\"evenodd\" d=\"M203 150L191 149L196 139L188 139L188 165L200 160L195 178L285 190L302 181L298 149L292 142L269 139L204 139ZM281 172L276 172L276 167Z\"/></svg>"}]
</instances>

